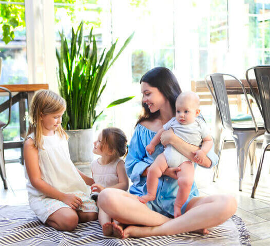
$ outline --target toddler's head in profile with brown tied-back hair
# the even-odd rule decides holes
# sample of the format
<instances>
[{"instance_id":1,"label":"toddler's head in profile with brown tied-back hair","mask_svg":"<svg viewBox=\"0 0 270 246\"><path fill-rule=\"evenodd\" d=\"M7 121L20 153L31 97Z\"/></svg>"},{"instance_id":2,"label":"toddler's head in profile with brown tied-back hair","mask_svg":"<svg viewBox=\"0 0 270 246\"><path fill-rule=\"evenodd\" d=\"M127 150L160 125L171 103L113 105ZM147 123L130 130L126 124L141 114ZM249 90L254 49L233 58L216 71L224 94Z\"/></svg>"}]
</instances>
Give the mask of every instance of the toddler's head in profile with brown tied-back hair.
<instances>
[{"instance_id":1,"label":"toddler's head in profile with brown tied-back hair","mask_svg":"<svg viewBox=\"0 0 270 246\"><path fill-rule=\"evenodd\" d=\"M98 140L94 142L93 153L97 155L111 155L114 158L125 156L127 153L127 137L116 127L102 130Z\"/></svg>"}]
</instances>

